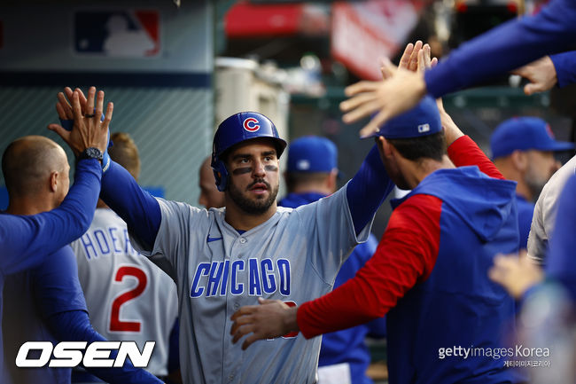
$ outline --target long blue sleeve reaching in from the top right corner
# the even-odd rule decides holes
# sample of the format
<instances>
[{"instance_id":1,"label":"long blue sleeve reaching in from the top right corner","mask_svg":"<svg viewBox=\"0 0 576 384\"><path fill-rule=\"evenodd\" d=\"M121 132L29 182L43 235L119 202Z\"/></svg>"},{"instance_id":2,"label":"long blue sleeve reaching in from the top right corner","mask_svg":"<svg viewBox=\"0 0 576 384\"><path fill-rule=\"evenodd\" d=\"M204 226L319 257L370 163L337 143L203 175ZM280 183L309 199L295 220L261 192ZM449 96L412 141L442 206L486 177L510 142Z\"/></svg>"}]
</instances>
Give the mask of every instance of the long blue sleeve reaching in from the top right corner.
<instances>
[{"instance_id":1,"label":"long blue sleeve reaching in from the top right corner","mask_svg":"<svg viewBox=\"0 0 576 384\"><path fill-rule=\"evenodd\" d=\"M470 87L496 74L565 51L576 35L576 2L552 0L534 16L510 20L451 51L426 71L426 90L434 98Z\"/></svg>"}]
</instances>

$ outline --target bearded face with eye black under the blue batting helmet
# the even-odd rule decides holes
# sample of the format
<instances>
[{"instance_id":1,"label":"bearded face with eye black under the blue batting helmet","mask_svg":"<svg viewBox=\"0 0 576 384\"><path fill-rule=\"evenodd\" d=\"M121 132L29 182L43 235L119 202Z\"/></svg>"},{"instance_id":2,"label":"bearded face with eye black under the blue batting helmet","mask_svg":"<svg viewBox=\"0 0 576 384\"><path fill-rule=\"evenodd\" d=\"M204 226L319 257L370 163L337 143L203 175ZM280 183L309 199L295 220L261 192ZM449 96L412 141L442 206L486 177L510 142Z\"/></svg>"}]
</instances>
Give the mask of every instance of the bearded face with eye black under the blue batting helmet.
<instances>
[{"instance_id":1,"label":"bearded face with eye black under the blue batting helmet","mask_svg":"<svg viewBox=\"0 0 576 384\"><path fill-rule=\"evenodd\" d=\"M238 145L228 156L230 200L249 215L261 215L276 202L279 170L276 146L269 139Z\"/></svg>"}]
</instances>

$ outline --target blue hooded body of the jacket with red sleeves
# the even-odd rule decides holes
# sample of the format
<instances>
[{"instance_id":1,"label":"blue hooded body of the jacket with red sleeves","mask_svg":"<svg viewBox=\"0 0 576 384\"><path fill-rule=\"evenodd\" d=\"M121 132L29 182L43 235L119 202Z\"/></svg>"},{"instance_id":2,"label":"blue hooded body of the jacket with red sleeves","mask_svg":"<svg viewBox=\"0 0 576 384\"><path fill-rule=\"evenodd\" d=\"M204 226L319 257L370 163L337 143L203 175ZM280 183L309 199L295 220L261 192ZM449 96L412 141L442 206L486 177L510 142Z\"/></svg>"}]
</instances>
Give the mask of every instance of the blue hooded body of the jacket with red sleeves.
<instances>
[{"instance_id":1,"label":"blue hooded body of the jacket with red sleeves","mask_svg":"<svg viewBox=\"0 0 576 384\"><path fill-rule=\"evenodd\" d=\"M461 354L479 348L486 355L509 347L502 337L510 336L514 302L487 270L496 253L518 250L515 188L475 166L440 169L401 200L416 194L442 200L440 245L430 276L386 315L390 384L522 381L503 366L511 358L442 353L460 347Z\"/></svg>"}]
</instances>

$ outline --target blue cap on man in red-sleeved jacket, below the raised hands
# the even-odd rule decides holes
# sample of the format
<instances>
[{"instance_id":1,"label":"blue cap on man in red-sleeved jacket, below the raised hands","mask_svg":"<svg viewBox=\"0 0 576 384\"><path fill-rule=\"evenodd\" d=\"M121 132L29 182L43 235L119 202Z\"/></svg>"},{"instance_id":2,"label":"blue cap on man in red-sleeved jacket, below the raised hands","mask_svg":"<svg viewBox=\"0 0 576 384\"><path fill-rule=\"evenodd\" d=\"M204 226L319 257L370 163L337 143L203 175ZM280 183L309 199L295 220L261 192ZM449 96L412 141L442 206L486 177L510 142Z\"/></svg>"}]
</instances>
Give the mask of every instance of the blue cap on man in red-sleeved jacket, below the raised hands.
<instances>
[{"instance_id":1,"label":"blue cap on man in red-sleeved jacket, below the raised hands","mask_svg":"<svg viewBox=\"0 0 576 384\"><path fill-rule=\"evenodd\" d=\"M370 137L384 136L386 138L423 137L442 130L440 113L436 101L426 96L417 106L400 114L380 127L378 132Z\"/></svg>"}]
</instances>

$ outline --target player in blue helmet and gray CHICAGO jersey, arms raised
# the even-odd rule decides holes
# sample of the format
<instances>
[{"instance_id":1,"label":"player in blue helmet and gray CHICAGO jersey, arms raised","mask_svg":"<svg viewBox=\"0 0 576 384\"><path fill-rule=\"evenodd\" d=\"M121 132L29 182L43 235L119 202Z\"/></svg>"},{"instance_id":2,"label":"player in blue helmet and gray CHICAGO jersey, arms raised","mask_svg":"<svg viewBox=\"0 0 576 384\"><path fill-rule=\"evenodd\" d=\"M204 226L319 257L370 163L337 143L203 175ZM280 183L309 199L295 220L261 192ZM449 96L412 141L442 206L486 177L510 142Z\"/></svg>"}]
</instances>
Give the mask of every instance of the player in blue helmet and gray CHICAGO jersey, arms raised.
<instances>
[{"instance_id":1,"label":"player in blue helmet and gray CHICAGO jersey, arms raised","mask_svg":"<svg viewBox=\"0 0 576 384\"><path fill-rule=\"evenodd\" d=\"M285 334L243 353L230 343L230 315L259 296L298 305L329 292L393 184L373 148L330 197L276 208L285 145L262 114L222 121L212 167L226 207L209 211L154 199L113 161L105 173L101 196L128 223L132 245L175 279L187 383L315 382L320 340Z\"/></svg>"}]
</instances>

